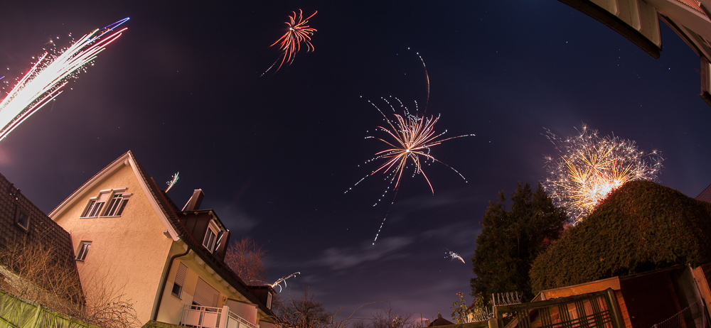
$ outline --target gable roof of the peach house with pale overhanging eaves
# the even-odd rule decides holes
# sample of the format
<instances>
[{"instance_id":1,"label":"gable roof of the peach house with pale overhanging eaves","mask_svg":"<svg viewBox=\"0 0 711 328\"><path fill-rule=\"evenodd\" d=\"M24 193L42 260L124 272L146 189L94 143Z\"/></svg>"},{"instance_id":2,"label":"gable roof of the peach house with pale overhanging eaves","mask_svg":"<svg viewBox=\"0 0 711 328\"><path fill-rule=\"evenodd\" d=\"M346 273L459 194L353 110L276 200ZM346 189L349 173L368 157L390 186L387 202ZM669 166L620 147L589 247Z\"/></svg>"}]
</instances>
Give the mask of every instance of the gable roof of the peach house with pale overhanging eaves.
<instances>
[{"instance_id":1,"label":"gable roof of the peach house with pale overhanging eaves","mask_svg":"<svg viewBox=\"0 0 711 328\"><path fill-rule=\"evenodd\" d=\"M146 173L146 170L143 166L141 166L138 160L136 160L131 151L127 151L123 155L119 156L119 158L109 163L109 165L100 170L99 173L95 174L87 182L81 185L81 187L79 187L75 192L55 207L55 209L50 212L49 217L53 219L58 217L70 207L73 200L77 199L77 197L81 197L85 192L91 190L92 187L105 180L112 173L119 170L119 168L122 168L122 165L130 165L136 176L139 177L138 180L141 188L144 190L146 196L151 196L148 197L149 202L153 205L158 216L161 218L161 221L163 221L166 225L166 230L169 232L173 241L182 240L186 245L188 245L188 247L190 247L191 250L193 250L193 252L196 253L197 256L205 261L205 263L210 266L212 270L225 279L225 281L227 281L232 288L235 288L237 292L247 297L247 300L250 300L250 302L255 303L267 316L274 317L272 310L269 310L266 305L257 300L255 295L250 293L247 284L245 284L245 282L237 276L232 269L228 268L227 264L216 258L212 253L210 253L210 251L204 248L192 234L188 232L188 229L182 222L180 222L176 214L181 212L181 210L178 209L173 200L166 195L166 192L158 187L156 181L153 180L148 173Z\"/></svg>"}]
</instances>

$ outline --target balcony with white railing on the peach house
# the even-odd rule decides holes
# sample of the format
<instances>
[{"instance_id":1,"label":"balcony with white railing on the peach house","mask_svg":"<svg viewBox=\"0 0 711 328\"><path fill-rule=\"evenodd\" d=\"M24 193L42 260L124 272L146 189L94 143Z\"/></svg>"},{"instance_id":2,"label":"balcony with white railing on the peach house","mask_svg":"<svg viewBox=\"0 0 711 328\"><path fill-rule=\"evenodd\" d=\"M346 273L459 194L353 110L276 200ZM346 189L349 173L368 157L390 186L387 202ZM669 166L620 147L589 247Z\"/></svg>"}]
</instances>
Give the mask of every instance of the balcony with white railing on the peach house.
<instances>
[{"instance_id":1,"label":"balcony with white railing on the peach house","mask_svg":"<svg viewBox=\"0 0 711 328\"><path fill-rule=\"evenodd\" d=\"M183 306L182 326L196 328L259 328L247 319L230 312L230 307Z\"/></svg>"}]
</instances>

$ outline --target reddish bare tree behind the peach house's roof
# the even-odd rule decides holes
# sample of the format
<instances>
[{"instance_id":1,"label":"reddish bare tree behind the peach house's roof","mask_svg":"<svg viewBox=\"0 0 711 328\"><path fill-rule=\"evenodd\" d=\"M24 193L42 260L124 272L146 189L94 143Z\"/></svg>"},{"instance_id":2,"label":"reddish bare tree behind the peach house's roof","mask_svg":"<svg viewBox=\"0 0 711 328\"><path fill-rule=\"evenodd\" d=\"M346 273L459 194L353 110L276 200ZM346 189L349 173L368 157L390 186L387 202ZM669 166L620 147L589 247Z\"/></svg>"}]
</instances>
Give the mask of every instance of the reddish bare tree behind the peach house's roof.
<instances>
[{"instance_id":1,"label":"reddish bare tree behind the peach house's roof","mask_svg":"<svg viewBox=\"0 0 711 328\"><path fill-rule=\"evenodd\" d=\"M266 284L267 267L264 266L264 256L267 251L251 237L242 238L240 241L232 241L225 254L225 263L233 270L247 285Z\"/></svg>"}]
</instances>

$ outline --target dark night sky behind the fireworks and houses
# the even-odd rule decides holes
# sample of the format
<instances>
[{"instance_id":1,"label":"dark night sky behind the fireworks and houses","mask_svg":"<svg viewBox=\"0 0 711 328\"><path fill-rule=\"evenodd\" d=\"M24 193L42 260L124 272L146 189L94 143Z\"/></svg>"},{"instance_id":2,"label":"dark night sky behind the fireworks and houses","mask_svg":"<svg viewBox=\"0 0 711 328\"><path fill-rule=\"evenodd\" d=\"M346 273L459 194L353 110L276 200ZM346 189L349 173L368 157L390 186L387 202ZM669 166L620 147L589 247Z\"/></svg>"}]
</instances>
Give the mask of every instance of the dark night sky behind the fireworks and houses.
<instances>
[{"instance_id":1,"label":"dark night sky behind the fireworks and houses","mask_svg":"<svg viewBox=\"0 0 711 328\"><path fill-rule=\"evenodd\" d=\"M400 295L392 307L417 317L449 319L459 291L471 302L480 219L499 191L544 179L544 156L555 155L544 127L570 136L585 123L661 151L661 183L691 197L711 183L699 58L663 23L654 60L555 0L126 2L3 5L3 82L21 77L50 38L68 45L69 33L131 20L55 104L0 142L0 173L48 213L131 150L159 185L180 172L176 204L202 188L201 207L216 210L232 239L264 245L269 280L301 271L288 280L292 293L311 286L328 310L343 307L341 318ZM319 11L309 21L316 50L260 77L298 9ZM365 138L383 136L368 100L423 109L416 53L429 72L427 114L442 114L437 131L476 134L432 148L468 182L437 163L424 166L434 195L422 175L403 177L373 246L390 200L373 203L387 181L344 192L377 168L364 163L384 147Z\"/></svg>"}]
</instances>

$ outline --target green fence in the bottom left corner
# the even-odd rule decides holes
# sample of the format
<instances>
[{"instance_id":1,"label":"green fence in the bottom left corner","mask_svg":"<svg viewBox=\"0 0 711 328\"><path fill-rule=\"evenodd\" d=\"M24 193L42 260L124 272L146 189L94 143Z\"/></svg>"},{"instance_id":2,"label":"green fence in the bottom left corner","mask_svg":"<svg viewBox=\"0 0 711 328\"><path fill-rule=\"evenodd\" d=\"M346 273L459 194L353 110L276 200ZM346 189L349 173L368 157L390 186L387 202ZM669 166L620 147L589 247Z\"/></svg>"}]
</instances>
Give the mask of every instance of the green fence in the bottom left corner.
<instances>
[{"instance_id":1,"label":"green fence in the bottom left corner","mask_svg":"<svg viewBox=\"0 0 711 328\"><path fill-rule=\"evenodd\" d=\"M101 328L0 290L0 328Z\"/></svg>"}]
</instances>

